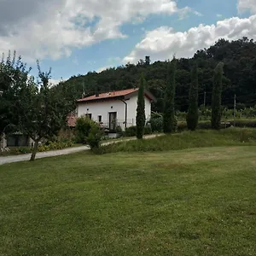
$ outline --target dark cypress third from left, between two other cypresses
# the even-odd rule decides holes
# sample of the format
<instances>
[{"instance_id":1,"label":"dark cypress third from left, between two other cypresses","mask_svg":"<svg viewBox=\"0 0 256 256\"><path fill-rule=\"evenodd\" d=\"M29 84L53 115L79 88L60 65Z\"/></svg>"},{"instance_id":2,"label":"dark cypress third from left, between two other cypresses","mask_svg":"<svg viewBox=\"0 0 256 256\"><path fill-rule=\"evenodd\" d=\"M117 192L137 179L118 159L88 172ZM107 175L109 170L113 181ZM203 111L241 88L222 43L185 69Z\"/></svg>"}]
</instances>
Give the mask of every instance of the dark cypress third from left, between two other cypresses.
<instances>
[{"instance_id":1,"label":"dark cypress third from left, between two other cypresses","mask_svg":"<svg viewBox=\"0 0 256 256\"><path fill-rule=\"evenodd\" d=\"M197 64L191 71L191 84L189 90L189 110L187 114L187 126L195 131L198 125L198 71Z\"/></svg>"}]
</instances>

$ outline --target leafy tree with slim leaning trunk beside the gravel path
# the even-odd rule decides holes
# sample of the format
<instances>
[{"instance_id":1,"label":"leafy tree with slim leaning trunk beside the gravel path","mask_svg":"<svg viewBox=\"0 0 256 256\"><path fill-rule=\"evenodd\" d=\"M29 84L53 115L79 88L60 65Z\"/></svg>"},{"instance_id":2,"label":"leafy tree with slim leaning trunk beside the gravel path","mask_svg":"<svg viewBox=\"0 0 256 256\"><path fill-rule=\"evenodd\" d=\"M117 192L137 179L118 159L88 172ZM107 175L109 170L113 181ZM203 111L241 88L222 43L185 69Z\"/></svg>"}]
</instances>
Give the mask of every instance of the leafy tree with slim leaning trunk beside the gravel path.
<instances>
[{"instance_id":1,"label":"leafy tree with slim leaning trunk beside the gravel path","mask_svg":"<svg viewBox=\"0 0 256 256\"><path fill-rule=\"evenodd\" d=\"M35 160L38 143L42 138L57 135L67 123L67 114L73 110L74 102L69 102L61 91L49 86L50 70L41 72L38 63L36 84L31 78L20 88L17 106L20 109L18 129L34 141L31 160Z\"/></svg>"}]
</instances>

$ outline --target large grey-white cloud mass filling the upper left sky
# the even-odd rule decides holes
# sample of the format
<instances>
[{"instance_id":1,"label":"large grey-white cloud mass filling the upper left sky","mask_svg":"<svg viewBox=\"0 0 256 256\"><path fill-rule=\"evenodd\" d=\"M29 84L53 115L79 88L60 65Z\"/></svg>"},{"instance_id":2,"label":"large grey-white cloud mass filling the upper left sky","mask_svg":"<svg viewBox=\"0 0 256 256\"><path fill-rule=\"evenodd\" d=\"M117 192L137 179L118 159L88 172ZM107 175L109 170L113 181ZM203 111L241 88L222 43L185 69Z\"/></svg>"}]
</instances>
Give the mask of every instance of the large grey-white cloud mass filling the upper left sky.
<instances>
[{"instance_id":1,"label":"large grey-white cloud mass filling the upper left sky","mask_svg":"<svg viewBox=\"0 0 256 256\"><path fill-rule=\"evenodd\" d=\"M0 52L16 49L26 60L55 60L73 48L125 38L124 23L188 11L175 0L0 0Z\"/></svg>"}]
</instances>

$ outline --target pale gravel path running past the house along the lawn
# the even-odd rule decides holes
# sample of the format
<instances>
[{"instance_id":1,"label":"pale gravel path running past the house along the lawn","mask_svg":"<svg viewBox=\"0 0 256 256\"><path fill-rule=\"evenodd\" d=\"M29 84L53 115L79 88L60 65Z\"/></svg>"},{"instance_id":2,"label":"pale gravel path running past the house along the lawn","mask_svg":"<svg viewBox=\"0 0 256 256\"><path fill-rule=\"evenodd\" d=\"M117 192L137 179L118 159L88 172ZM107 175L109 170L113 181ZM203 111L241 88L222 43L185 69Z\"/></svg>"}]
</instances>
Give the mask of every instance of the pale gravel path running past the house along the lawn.
<instances>
[{"instance_id":1,"label":"pale gravel path running past the house along the lawn","mask_svg":"<svg viewBox=\"0 0 256 256\"><path fill-rule=\"evenodd\" d=\"M153 138L161 136L160 135L148 135L145 136L145 139L148 138ZM119 140L119 141L113 141L110 143L119 143L119 142L127 142L127 141L132 141L135 140L135 137L129 138L129 139L124 139L124 140ZM102 143L102 145L108 145L110 143ZM49 157L49 156L56 156L56 155L62 155L62 154L73 154L76 152L84 151L84 150L89 150L90 148L88 146L80 146L80 147L74 147L74 148L65 148L61 150L54 150L54 151L47 151L47 152L38 152L36 155L36 159L39 158L44 158L44 157ZM30 160L31 154L19 154L19 155L9 155L9 156L0 156L0 165L4 164L9 164L9 163L14 163L14 162L20 162L20 161L26 161Z\"/></svg>"}]
</instances>

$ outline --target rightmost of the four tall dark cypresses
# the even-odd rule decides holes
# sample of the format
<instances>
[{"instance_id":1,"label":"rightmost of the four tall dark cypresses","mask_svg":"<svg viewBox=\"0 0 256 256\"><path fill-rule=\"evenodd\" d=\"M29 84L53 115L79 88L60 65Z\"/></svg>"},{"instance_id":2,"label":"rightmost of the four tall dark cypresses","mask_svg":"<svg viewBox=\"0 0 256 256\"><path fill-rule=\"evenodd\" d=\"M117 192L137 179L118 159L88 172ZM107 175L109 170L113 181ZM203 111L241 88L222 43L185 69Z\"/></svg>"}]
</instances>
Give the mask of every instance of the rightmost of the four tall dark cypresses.
<instances>
[{"instance_id":1,"label":"rightmost of the four tall dark cypresses","mask_svg":"<svg viewBox=\"0 0 256 256\"><path fill-rule=\"evenodd\" d=\"M218 63L214 70L212 89L212 129L218 130L221 121L221 94L224 63Z\"/></svg>"}]
</instances>

